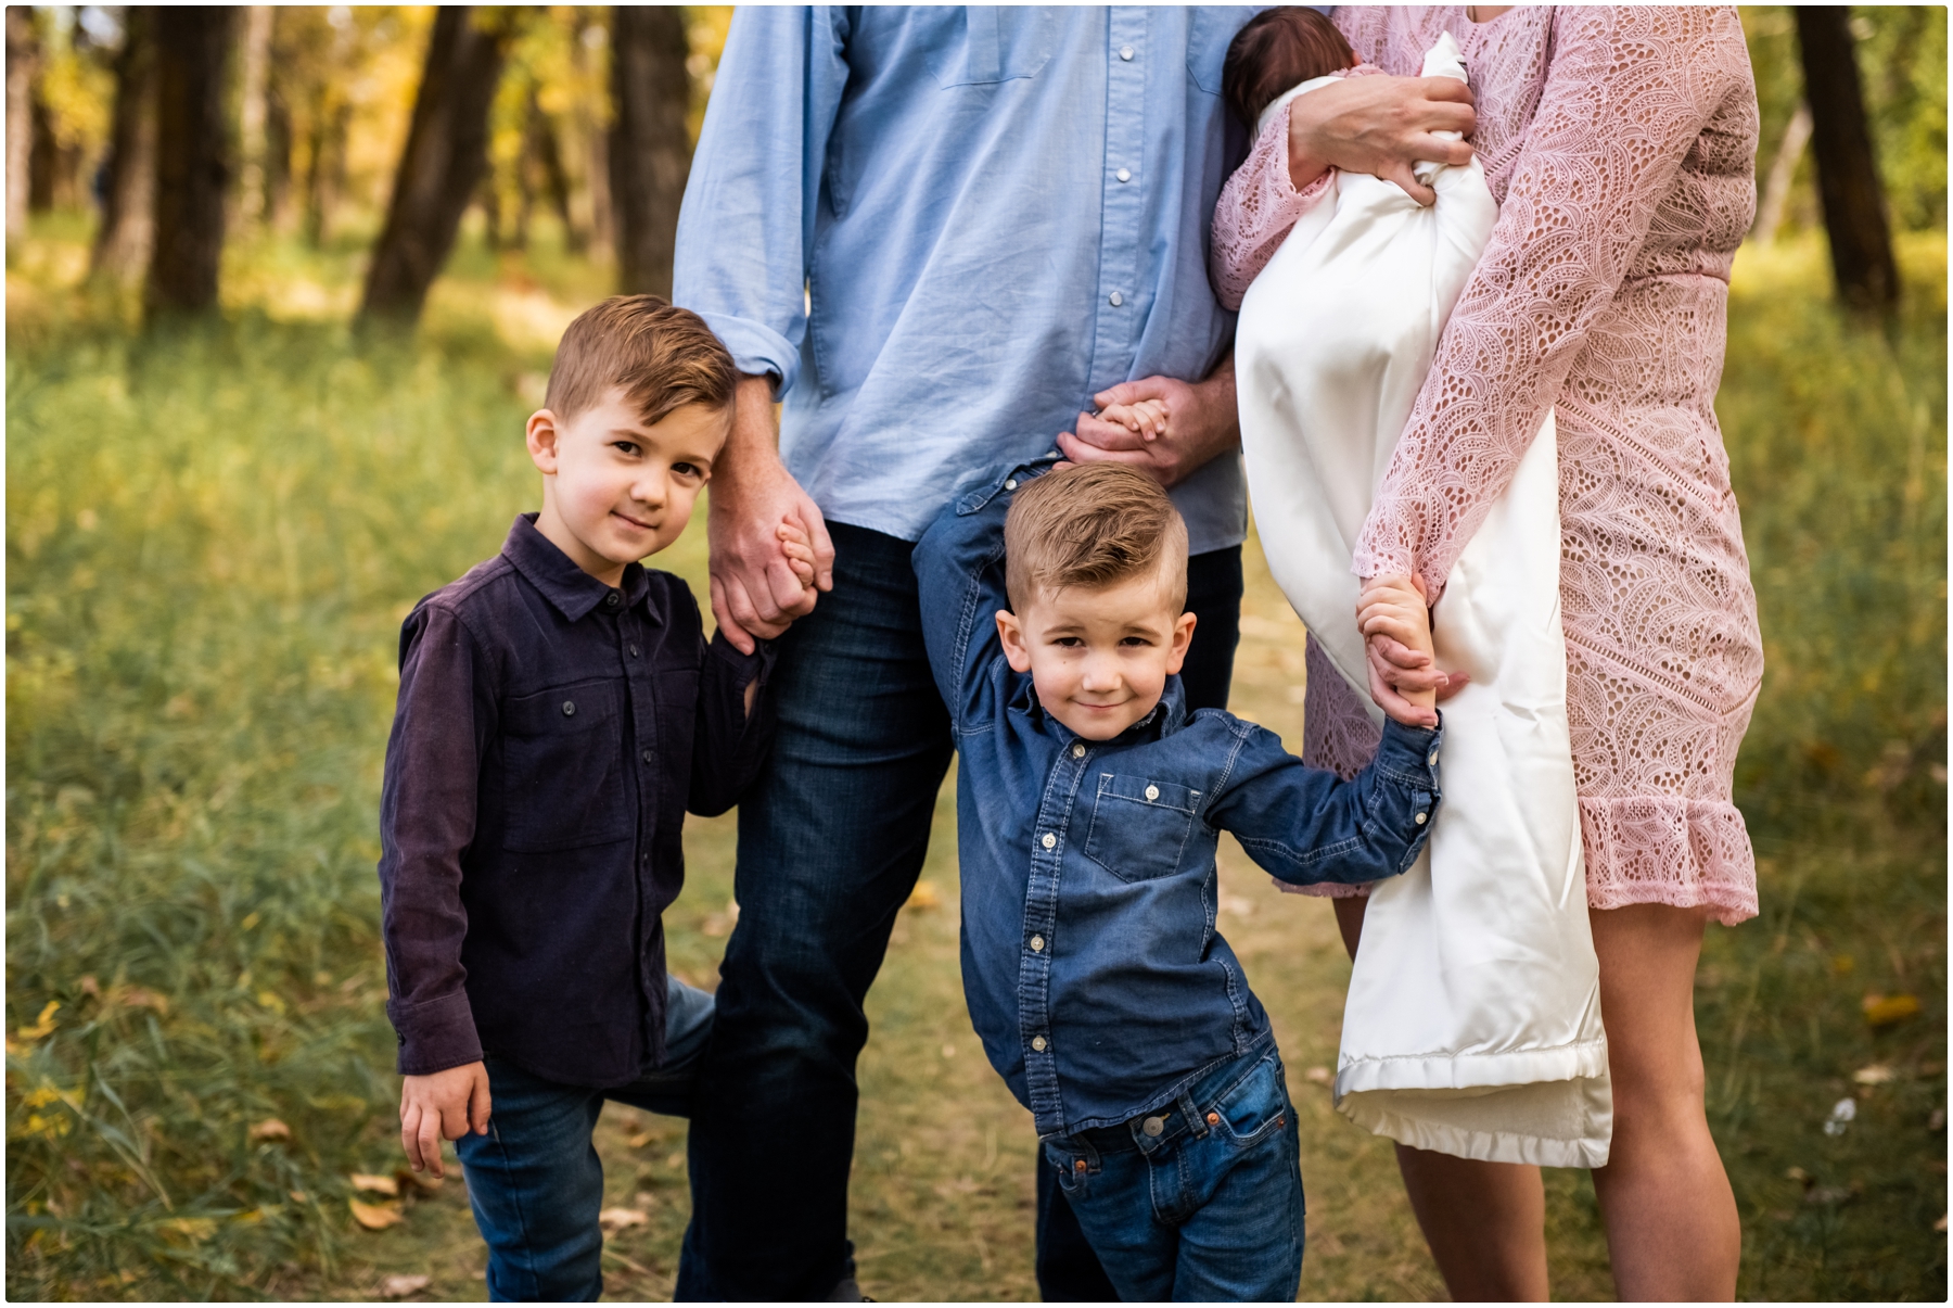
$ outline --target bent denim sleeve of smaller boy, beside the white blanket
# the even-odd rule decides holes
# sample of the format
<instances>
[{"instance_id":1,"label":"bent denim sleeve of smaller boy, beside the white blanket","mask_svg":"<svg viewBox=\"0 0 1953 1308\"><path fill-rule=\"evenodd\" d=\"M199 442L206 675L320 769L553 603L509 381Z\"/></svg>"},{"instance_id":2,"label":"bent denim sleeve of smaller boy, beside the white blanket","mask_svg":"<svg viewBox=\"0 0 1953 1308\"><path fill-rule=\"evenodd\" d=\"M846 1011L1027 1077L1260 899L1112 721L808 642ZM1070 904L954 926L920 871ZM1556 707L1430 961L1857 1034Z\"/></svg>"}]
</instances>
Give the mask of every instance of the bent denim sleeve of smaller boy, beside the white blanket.
<instances>
[{"instance_id":1,"label":"bent denim sleeve of smaller boy, beside the white blanket","mask_svg":"<svg viewBox=\"0 0 1953 1308\"><path fill-rule=\"evenodd\" d=\"M1277 880L1359 886L1410 870L1437 815L1443 729L1385 721L1377 757L1355 778L1307 766L1250 725L1207 825L1232 831Z\"/></svg>"}]
</instances>

